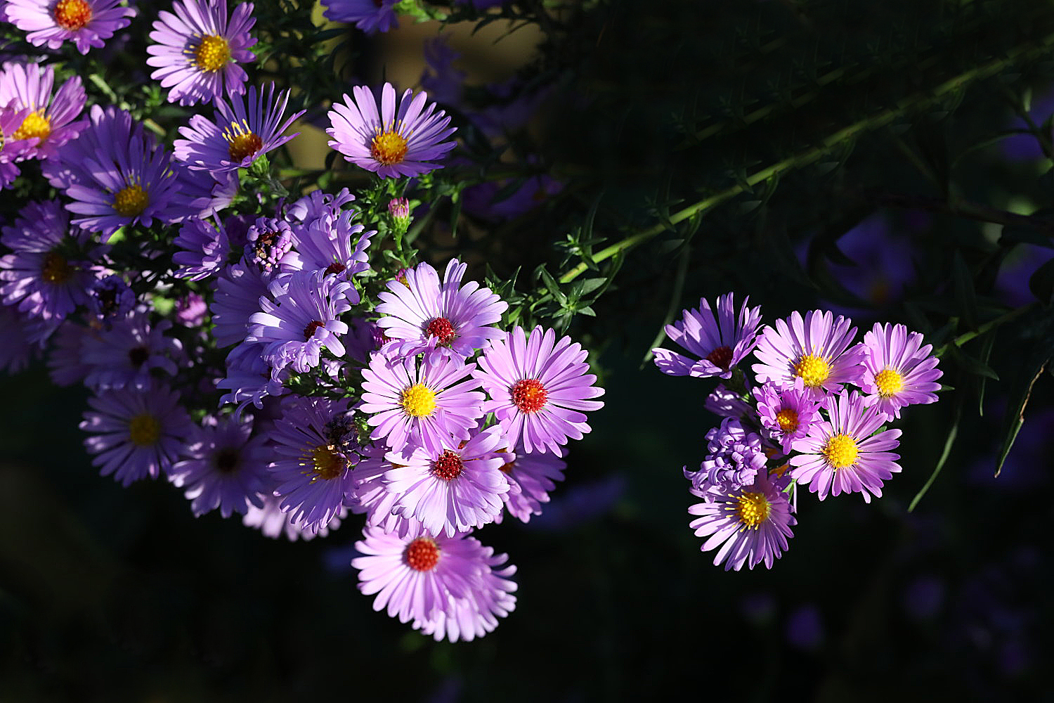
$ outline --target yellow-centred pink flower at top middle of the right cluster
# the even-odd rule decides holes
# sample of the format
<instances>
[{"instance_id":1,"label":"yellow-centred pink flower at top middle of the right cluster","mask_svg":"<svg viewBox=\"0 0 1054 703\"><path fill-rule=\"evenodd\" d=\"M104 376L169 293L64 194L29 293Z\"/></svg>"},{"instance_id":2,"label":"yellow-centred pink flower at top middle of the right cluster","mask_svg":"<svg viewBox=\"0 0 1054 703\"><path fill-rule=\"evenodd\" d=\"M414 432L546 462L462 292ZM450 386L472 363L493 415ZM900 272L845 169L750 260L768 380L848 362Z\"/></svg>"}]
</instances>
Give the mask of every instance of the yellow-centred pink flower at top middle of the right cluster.
<instances>
[{"instance_id":1,"label":"yellow-centred pink flower at top middle of the right cluster","mask_svg":"<svg viewBox=\"0 0 1054 703\"><path fill-rule=\"evenodd\" d=\"M787 324L789 321L789 325ZM754 355L759 384L772 383L778 388L793 388L798 378L814 395L823 391L839 393L842 384L855 384L863 373L863 350L851 346L856 328L853 320L839 315L833 319L829 311L795 311L788 320L776 320L761 333Z\"/></svg>"}]
</instances>

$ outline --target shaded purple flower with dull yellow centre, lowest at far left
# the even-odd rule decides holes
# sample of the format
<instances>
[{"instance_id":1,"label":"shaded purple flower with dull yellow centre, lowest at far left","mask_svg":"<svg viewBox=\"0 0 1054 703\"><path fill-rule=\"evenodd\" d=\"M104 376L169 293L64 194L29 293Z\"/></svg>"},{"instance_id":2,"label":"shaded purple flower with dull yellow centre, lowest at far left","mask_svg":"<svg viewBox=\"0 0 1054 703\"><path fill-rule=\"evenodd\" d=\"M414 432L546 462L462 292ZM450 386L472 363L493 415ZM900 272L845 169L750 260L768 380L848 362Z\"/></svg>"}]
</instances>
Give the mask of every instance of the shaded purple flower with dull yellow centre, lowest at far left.
<instances>
[{"instance_id":1,"label":"shaded purple flower with dull yellow centre, lowest at far left","mask_svg":"<svg viewBox=\"0 0 1054 703\"><path fill-rule=\"evenodd\" d=\"M87 404L80 429L91 434L84 446L96 454L92 465L124 486L167 472L193 427L179 394L161 385L103 391Z\"/></svg>"}]
</instances>

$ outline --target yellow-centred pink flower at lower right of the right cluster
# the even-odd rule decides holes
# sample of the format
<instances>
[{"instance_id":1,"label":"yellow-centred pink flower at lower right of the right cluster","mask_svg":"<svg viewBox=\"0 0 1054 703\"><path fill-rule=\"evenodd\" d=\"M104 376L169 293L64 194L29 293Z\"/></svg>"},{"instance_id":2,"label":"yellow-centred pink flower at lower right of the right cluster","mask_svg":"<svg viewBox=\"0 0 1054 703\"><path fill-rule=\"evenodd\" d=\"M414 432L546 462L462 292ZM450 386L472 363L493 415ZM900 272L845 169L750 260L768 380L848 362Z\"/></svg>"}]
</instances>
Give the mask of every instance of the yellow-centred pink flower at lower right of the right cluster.
<instances>
[{"instance_id":1,"label":"yellow-centred pink flower at lower right of the right cluster","mask_svg":"<svg viewBox=\"0 0 1054 703\"><path fill-rule=\"evenodd\" d=\"M808 434L795 440L790 476L818 493L820 500L840 493L860 493L864 503L881 497L882 483L900 472L896 449L900 430L874 434L885 422L875 406L866 407L856 391L827 404L829 421L821 419ZM874 434L874 436L872 436Z\"/></svg>"}]
</instances>

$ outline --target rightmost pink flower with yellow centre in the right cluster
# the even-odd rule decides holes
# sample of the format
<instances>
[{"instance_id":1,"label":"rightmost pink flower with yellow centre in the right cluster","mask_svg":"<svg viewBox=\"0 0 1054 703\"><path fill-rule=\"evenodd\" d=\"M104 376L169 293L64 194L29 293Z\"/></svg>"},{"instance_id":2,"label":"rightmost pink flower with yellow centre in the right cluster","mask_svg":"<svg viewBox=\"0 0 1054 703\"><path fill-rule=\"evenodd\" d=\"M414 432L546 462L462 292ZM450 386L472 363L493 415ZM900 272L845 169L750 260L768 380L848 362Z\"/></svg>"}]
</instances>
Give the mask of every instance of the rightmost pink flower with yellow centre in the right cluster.
<instances>
[{"instance_id":1,"label":"rightmost pink flower with yellow centre in the right cluster","mask_svg":"<svg viewBox=\"0 0 1054 703\"><path fill-rule=\"evenodd\" d=\"M933 347L922 346L921 334L903 325L875 323L863 335L863 350L864 405L894 419L905 406L937 402L937 379L943 372L937 368L937 357L931 356Z\"/></svg>"}]
</instances>

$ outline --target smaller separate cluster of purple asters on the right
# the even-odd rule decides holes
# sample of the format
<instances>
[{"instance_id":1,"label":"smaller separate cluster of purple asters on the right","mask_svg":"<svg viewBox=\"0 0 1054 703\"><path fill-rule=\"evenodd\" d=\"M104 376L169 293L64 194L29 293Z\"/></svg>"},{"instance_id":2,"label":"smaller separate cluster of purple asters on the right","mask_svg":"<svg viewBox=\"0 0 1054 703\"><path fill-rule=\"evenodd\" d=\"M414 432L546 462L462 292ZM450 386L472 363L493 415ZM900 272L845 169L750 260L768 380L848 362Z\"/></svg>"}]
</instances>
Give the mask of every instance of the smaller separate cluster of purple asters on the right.
<instances>
[{"instance_id":1,"label":"smaller separate cluster of purple asters on the right","mask_svg":"<svg viewBox=\"0 0 1054 703\"><path fill-rule=\"evenodd\" d=\"M760 308L744 300L737 315L727 293L666 327L692 356L652 350L664 373L722 379L706 401L721 424L706 434L700 467L684 474L702 500L688 509L698 515L690 526L725 570L780 558L797 524L799 485L821 501L881 496L900 472L900 430L885 425L905 406L936 402L940 389L931 346L903 325L876 323L862 341L852 320L821 310L760 325ZM739 366L752 351L753 382Z\"/></svg>"}]
</instances>

